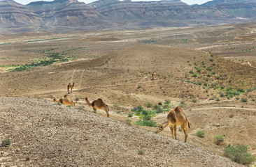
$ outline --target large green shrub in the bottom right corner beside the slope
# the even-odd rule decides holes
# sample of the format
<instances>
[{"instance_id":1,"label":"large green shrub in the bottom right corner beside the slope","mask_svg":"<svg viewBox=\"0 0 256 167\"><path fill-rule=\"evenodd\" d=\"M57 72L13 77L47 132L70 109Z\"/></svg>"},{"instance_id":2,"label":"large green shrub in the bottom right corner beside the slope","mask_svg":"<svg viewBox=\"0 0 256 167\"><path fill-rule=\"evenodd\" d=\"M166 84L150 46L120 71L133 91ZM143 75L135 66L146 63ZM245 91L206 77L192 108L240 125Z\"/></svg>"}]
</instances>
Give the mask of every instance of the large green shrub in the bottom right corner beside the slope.
<instances>
[{"instance_id":1,"label":"large green shrub in the bottom right corner beside the slope","mask_svg":"<svg viewBox=\"0 0 256 167\"><path fill-rule=\"evenodd\" d=\"M225 147L223 155L239 164L248 165L252 164L253 161L256 160L256 158L248 152L246 145L232 146L229 144Z\"/></svg>"}]
</instances>

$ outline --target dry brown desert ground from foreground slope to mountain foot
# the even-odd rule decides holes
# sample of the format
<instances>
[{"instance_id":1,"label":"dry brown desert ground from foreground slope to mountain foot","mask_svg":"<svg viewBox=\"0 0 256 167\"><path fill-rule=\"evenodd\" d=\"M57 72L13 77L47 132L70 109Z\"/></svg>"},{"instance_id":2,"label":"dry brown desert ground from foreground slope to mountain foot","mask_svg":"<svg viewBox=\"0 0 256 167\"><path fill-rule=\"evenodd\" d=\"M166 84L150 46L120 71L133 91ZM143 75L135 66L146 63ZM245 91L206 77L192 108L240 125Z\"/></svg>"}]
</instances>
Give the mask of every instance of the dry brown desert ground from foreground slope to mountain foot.
<instances>
[{"instance_id":1,"label":"dry brown desert ground from foreground slope to mountain foot","mask_svg":"<svg viewBox=\"0 0 256 167\"><path fill-rule=\"evenodd\" d=\"M255 40L253 23L1 35L0 139L13 143L0 147L0 164L242 166L222 155L230 143L256 156ZM53 102L66 94L76 106ZM85 97L106 102L110 118ZM155 134L136 125L141 117L131 109L155 111L158 103L157 124L181 106L191 123L187 143L180 129L173 140L168 127ZM225 140L216 145L218 134Z\"/></svg>"}]
</instances>

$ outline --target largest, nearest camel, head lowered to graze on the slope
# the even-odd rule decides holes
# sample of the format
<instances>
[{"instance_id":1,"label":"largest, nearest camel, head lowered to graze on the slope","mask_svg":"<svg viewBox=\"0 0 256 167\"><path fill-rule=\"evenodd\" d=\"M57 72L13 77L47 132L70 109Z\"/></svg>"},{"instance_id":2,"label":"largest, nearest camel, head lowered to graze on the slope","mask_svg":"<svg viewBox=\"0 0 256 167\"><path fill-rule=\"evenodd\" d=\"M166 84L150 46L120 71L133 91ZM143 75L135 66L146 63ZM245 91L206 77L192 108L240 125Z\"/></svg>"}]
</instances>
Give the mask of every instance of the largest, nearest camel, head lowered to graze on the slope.
<instances>
[{"instance_id":1,"label":"largest, nearest camel, head lowered to graze on the slope","mask_svg":"<svg viewBox=\"0 0 256 167\"><path fill-rule=\"evenodd\" d=\"M171 129L171 136L173 138L173 129L174 129L174 136L176 137L176 126L179 126L183 129L183 132L185 134L185 142L187 141L187 127L190 128L190 122L187 119L187 116L183 112L183 110L180 108L180 106L177 106L175 109L169 111L167 115L167 120L162 123L161 125L157 126L157 132L161 132L166 128L167 126Z\"/></svg>"}]
</instances>

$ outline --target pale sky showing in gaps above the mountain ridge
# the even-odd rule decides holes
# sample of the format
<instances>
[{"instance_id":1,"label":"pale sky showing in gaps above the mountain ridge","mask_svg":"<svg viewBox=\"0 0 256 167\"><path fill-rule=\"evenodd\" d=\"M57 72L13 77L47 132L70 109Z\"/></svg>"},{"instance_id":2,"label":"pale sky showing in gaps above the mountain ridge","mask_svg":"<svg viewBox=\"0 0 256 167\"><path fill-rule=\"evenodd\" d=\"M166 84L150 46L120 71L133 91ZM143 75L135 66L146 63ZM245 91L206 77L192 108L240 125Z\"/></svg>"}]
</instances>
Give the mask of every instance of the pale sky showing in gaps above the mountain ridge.
<instances>
[{"instance_id":1,"label":"pale sky showing in gaps above the mountain ridge","mask_svg":"<svg viewBox=\"0 0 256 167\"><path fill-rule=\"evenodd\" d=\"M28 3L30 3L31 1L42 1L42 0L14 0L16 1L17 3L21 3L23 5L27 5ZM53 1L53 0L43 0L43 1ZM97 1L97 0L78 0L78 1L83 1L85 3L91 3L93 1ZM131 1L159 1L159 0L131 0ZM205 3L206 1L209 1L209 0L181 0L189 5L192 5L192 4L201 4L201 3Z\"/></svg>"}]
</instances>

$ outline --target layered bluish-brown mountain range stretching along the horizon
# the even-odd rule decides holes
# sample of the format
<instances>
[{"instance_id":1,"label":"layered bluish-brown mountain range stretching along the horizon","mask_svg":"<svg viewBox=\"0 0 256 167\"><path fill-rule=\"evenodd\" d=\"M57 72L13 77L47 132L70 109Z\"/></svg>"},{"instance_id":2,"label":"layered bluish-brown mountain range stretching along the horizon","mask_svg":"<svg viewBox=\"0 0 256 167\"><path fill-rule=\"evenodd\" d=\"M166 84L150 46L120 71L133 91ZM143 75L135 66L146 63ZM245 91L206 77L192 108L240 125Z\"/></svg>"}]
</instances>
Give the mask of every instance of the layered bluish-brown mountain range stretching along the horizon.
<instances>
[{"instance_id":1,"label":"layered bluish-brown mountain range stretching along the horizon","mask_svg":"<svg viewBox=\"0 0 256 167\"><path fill-rule=\"evenodd\" d=\"M0 30L55 33L99 29L144 29L256 21L256 0L213 0L189 6L180 0L36 1L25 6L0 1ZM20 29L17 29L20 27ZM23 27L23 28L22 28ZM31 28L33 27L33 28Z\"/></svg>"}]
</instances>

